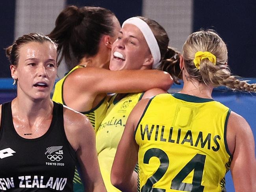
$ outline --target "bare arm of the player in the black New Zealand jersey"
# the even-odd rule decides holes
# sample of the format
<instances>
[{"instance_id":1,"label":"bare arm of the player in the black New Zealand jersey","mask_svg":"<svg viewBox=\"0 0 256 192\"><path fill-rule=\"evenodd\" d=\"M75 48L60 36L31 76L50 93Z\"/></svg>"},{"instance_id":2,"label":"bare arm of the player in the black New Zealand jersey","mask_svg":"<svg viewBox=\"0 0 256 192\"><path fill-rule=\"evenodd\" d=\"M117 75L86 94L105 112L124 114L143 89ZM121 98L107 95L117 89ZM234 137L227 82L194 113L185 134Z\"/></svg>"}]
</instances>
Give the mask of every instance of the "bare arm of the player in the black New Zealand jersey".
<instances>
[{"instance_id":1,"label":"bare arm of the player in the black New Zealand jersey","mask_svg":"<svg viewBox=\"0 0 256 192\"><path fill-rule=\"evenodd\" d=\"M64 126L67 138L76 151L78 169L85 191L106 192L95 147L95 132L88 118L65 109Z\"/></svg>"}]
</instances>

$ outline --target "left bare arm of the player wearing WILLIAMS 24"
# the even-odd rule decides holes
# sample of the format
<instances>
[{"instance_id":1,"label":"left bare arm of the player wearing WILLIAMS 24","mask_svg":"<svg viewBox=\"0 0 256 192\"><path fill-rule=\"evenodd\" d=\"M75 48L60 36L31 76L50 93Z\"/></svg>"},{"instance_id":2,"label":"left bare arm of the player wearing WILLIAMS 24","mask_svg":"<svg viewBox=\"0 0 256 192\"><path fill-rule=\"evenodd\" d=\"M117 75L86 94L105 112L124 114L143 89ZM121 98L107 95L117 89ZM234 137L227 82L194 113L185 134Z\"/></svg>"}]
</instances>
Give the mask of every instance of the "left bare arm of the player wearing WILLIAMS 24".
<instances>
[{"instance_id":1,"label":"left bare arm of the player wearing WILLIAMS 24","mask_svg":"<svg viewBox=\"0 0 256 192\"><path fill-rule=\"evenodd\" d=\"M134 172L134 167L138 161L139 146L134 139L134 129L148 101L149 99L141 100L130 113L115 154L111 183L122 192L137 191L137 174Z\"/></svg>"}]
</instances>

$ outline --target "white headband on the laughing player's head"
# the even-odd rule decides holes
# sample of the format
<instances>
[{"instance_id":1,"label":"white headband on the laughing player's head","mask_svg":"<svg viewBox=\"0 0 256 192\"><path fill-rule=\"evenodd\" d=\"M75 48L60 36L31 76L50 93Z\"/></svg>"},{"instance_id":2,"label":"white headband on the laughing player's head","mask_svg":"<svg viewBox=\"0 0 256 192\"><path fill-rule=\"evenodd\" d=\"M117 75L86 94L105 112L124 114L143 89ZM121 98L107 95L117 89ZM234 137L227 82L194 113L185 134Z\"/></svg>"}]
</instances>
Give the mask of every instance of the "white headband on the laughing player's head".
<instances>
[{"instance_id":1,"label":"white headband on the laughing player's head","mask_svg":"<svg viewBox=\"0 0 256 192\"><path fill-rule=\"evenodd\" d=\"M151 31L151 29L149 28L148 24L145 21L143 21L142 19L140 19L139 17L128 18L127 20L125 20L123 22L122 28L125 24L133 24L137 28L139 28L139 30L145 37L145 40L148 44L148 48L153 57L152 68L157 68L159 65L159 61L161 59L161 53L160 53L160 49L159 49L158 43L156 41L156 38L155 38L153 32Z\"/></svg>"}]
</instances>

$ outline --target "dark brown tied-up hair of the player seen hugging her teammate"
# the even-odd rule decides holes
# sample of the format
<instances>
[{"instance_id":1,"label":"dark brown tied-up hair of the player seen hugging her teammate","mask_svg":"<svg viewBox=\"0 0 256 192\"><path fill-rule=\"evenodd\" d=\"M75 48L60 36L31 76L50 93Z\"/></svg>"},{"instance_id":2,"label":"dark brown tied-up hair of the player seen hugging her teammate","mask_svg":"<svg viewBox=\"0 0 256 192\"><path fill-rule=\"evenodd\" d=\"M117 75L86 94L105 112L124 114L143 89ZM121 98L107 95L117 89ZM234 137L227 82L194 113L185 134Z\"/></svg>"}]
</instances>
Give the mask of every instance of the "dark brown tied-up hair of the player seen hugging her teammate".
<instances>
[{"instance_id":1,"label":"dark brown tied-up hair of the player seen hugging her teammate","mask_svg":"<svg viewBox=\"0 0 256 192\"><path fill-rule=\"evenodd\" d=\"M114 13L102 7L68 6L61 11L48 35L58 44L57 66L64 57L71 70L83 57L96 55L102 35L114 35L113 17Z\"/></svg>"}]
</instances>

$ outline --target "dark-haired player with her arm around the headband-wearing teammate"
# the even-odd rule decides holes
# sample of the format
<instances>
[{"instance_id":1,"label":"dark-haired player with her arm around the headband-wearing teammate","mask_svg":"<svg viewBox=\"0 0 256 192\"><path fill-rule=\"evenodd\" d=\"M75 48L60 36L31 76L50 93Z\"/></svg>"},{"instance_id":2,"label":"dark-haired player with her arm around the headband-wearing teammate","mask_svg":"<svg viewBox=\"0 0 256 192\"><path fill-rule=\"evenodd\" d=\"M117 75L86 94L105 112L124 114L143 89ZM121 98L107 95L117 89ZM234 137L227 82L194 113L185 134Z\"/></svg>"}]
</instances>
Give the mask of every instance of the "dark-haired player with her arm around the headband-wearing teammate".
<instances>
[{"instance_id":1,"label":"dark-haired player with her arm around the headband-wearing teammate","mask_svg":"<svg viewBox=\"0 0 256 192\"><path fill-rule=\"evenodd\" d=\"M58 64L65 58L70 70L57 82L52 99L88 116L95 132L106 114L107 93L154 87L167 90L173 82L160 70L108 70L111 47L119 31L119 21L108 9L68 6L48 35L58 43ZM74 191L83 191L77 171Z\"/></svg>"}]
</instances>

